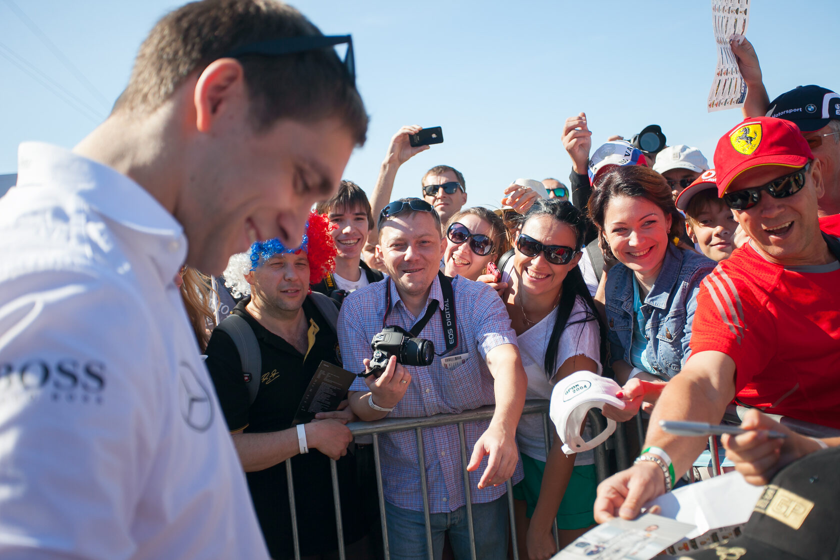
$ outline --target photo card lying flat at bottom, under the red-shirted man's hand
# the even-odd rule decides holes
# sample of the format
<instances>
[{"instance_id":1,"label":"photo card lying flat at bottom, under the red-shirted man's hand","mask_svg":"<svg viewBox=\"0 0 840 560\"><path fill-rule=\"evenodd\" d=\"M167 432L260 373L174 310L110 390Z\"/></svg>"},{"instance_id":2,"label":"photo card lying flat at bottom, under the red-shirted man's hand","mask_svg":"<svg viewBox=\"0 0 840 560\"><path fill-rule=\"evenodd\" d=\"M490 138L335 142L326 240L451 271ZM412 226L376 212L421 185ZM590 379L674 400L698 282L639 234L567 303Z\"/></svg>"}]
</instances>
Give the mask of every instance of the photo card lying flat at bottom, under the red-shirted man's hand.
<instances>
[{"instance_id":1,"label":"photo card lying flat at bottom, under the red-shirted man's hand","mask_svg":"<svg viewBox=\"0 0 840 560\"><path fill-rule=\"evenodd\" d=\"M552 560L648 560L692 529L693 525L650 513L633 521L614 518L578 537Z\"/></svg>"}]
</instances>

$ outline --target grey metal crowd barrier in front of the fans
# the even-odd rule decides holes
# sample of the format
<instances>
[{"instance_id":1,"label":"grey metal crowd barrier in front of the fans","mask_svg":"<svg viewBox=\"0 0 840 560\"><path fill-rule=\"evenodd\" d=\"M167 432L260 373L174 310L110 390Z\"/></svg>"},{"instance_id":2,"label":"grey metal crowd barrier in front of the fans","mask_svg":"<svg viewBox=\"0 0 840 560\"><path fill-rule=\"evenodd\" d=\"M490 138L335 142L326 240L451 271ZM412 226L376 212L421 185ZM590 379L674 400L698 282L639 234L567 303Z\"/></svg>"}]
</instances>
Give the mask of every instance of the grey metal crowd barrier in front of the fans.
<instances>
[{"instance_id":1,"label":"grey metal crowd barrier in front of the fans","mask_svg":"<svg viewBox=\"0 0 840 560\"><path fill-rule=\"evenodd\" d=\"M467 507L467 522L470 527L470 557L472 558L472 560L477 560L475 557L475 530L473 527L472 500L470 500L470 478L467 474L468 456L465 445L464 423L476 420L489 420L493 416L493 412L495 410L495 406L483 406L481 408L475 409L474 411L465 411L460 414L438 414L436 416L427 416L422 418L385 418L383 420L371 422L351 422L347 425L347 427L349 427L350 429L350 432L353 433L354 437L368 435L373 437L374 463L376 469L376 489L379 495L379 512L381 516L382 543L386 560L390 560L391 552L389 551L388 528L386 526L385 497L382 493L382 469L379 455L379 437L384 433L401 432L406 430L415 431L417 438L417 457L420 461L420 487L423 492L423 514L426 521L426 545L428 548L429 560L433 560L432 529L429 521L428 511L428 482L426 479L426 459L423 456L422 431L423 428L426 427L446 426L450 424L458 425L458 435L461 444L461 464L463 467L464 477L464 493ZM552 430L550 429L551 423L549 420L549 401L528 400L525 403L525 408L522 411L522 416L533 414L539 414L543 416L543 441L545 442L545 453L548 454L553 439L553 437L549 436L549 434L552 433ZM596 410L593 409L589 411L589 415L587 416L587 418L591 422L593 431L598 432L601 429L603 429L605 421ZM610 468L607 458L607 449L612 448L612 446L613 438L611 437L606 442L601 443L601 445L594 449L598 482L601 482L601 480L606 479L606 477L610 474ZM471 451L472 450L470 450L470 453ZM333 479L333 505L335 506L335 524L339 542L339 558L341 560L344 560L344 529L342 527L341 522L339 478L338 471L336 469L336 463L332 459L330 460L330 471ZM288 484L289 489L289 508L291 509L291 535L294 539L295 559L300 560L300 544L297 532L297 510L295 508L295 492L292 482L291 460L286 460L286 483ZM517 551L516 521L513 516L513 490L510 480L508 480L506 484L507 505L509 509L511 522L511 542L513 548L513 558L514 560L518 560L519 554ZM557 542L556 521L554 522L554 542Z\"/></svg>"}]
</instances>

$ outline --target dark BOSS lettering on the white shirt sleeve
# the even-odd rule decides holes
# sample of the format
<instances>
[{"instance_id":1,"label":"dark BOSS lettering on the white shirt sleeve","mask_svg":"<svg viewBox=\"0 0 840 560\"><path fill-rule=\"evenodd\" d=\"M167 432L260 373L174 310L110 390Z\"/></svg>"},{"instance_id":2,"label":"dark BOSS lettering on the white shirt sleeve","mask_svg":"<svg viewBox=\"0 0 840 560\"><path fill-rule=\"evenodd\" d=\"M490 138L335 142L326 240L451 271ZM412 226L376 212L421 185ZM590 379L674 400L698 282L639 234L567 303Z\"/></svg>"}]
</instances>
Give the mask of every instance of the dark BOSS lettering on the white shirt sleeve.
<instances>
[{"instance_id":1,"label":"dark BOSS lettering on the white shirt sleeve","mask_svg":"<svg viewBox=\"0 0 840 560\"><path fill-rule=\"evenodd\" d=\"M31 359L0 364L0 401L47 395L52 400L101 404L105 364L90 360L60 359L49 363Z\"/></svg>"}]
</instances>

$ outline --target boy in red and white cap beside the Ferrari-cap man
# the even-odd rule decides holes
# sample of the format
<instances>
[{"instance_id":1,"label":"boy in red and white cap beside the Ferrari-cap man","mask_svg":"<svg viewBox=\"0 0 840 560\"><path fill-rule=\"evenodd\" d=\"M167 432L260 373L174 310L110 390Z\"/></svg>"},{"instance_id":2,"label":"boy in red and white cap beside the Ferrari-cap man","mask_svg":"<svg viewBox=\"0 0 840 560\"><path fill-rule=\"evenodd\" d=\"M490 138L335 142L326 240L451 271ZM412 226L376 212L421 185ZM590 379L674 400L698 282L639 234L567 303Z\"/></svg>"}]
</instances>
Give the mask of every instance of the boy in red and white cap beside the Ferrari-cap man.
<instances>
[{"instance_id":1,"label":"boy in red and white cap beside the Ferrari-cap man","mask_svg":"<svg viewBox=\"0 0 840 560\"><path fill-rule=\"evenodd\" d=\"M685 214L685 233L706 257L717 262L728 259L735 249L734 237L738 222L732 210L717 197L715 170L704 171L687 186L676 200L677 209Z\"/></svg>"}]
</instances>

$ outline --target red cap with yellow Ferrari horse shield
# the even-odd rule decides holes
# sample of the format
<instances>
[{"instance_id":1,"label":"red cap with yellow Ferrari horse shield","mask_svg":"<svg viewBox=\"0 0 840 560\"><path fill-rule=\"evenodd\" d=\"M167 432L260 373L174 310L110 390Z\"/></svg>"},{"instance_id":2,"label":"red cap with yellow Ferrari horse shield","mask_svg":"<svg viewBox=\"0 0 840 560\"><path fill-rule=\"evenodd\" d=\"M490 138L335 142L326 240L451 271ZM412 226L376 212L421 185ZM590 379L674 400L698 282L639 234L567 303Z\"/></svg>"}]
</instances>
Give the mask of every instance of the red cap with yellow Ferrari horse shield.
<instances>
[{"instance_id":1,"label":"red cap with yellow Ferrari horse shield","mask_svg":"<svg viewBox=\"0 0 840 560\"><path fill-rule=\"evenodd\" d=\"M759 165L803 167L814 159L799 127L784 118L746 118L717 142L717 196L732 181Z\"/></svg>"}]
</instances>

